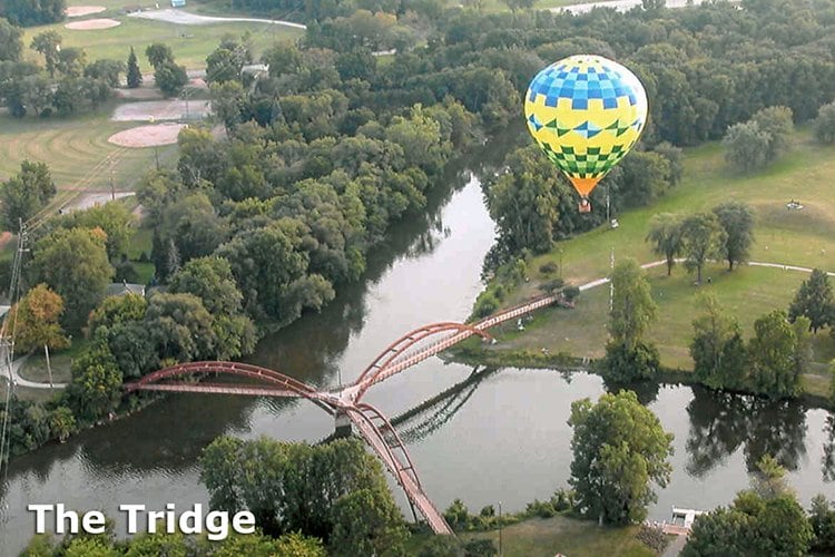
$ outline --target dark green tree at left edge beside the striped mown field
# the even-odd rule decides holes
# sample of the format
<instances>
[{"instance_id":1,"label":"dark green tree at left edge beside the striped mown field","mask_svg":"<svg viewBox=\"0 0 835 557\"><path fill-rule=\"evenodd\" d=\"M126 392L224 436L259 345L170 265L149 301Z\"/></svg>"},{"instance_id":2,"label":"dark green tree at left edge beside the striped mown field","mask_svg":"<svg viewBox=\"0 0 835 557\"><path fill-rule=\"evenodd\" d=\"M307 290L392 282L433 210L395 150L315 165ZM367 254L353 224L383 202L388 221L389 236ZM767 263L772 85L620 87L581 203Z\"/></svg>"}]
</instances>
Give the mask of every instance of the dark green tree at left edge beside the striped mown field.
<instances>
[{"instance_id":1,"label":"dark green tree at left edge beside the striped mown field","mask_svg":"<svg viewBox=\"0 0 835 557\"><path fill-rule=\"evenodd\" d=\"M56 193L49 167L30 160L23 160L20 173L0 187L0 219L7 231L17 231L20 221L33 217Z\"/></svg>"}]
</instances>

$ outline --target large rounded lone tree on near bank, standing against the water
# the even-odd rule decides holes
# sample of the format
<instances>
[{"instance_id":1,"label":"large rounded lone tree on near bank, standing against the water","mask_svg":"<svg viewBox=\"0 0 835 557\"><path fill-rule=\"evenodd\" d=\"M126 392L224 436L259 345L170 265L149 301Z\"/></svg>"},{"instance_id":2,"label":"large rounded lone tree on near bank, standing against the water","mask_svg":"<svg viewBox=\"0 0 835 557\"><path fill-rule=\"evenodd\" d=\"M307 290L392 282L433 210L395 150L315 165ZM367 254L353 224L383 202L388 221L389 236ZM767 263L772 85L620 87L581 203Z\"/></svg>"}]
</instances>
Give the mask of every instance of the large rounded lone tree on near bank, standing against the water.
<instances>
[{"instance_id":1,"label":"large rounded lone tree on near bank, standing against the water","mask_svg":"<svg viewBox=\"0 0 835 557\"><path fill-rule=\"evenodd\" d=\"M666 487L672 434L631 391L571 404L571 478L578 508L599 524L642 520L657 500L650 482Z\"/></svg>"}]
</instances>

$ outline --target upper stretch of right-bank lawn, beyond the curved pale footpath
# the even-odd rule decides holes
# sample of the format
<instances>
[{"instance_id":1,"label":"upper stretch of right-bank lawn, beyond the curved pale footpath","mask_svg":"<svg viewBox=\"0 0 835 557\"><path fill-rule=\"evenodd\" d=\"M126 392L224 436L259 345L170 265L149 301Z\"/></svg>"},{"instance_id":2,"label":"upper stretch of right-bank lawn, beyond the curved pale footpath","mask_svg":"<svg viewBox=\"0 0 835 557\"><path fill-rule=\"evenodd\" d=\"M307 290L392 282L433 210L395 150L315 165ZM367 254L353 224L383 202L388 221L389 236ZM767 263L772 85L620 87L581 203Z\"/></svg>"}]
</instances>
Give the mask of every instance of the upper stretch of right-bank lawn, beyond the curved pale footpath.
<instances>
[{"instance_id":1,"label":"upper stretch of right-bank lawn, beyond the curved pale footpath","mask_svg":"<svg viewBox=\"0 0 835 557\"><path fill-rule=\"evenodd\" d=\"M582 284L609 273L612 248L616 260L635 257L639 263L660 260L644 241L652 215L709 211L727 201L744 201L756 213L752 261L834 270L835 146L817 145L808 130L796 133L793 139L789 154L750 176L734 175L717 143L686 149L681 184L649 207L617 215L620 224L617 229L601 226L560 242L550 253L534 257L529 265L528 291L543 280L539 267L549 261L559 264L562 258L564 278ZM605 182L601 187L606 187ZM786 209L789 199L798 199L805 208ZM518 299L525 293L522 289Z\"/></svg>"}]
</instances>

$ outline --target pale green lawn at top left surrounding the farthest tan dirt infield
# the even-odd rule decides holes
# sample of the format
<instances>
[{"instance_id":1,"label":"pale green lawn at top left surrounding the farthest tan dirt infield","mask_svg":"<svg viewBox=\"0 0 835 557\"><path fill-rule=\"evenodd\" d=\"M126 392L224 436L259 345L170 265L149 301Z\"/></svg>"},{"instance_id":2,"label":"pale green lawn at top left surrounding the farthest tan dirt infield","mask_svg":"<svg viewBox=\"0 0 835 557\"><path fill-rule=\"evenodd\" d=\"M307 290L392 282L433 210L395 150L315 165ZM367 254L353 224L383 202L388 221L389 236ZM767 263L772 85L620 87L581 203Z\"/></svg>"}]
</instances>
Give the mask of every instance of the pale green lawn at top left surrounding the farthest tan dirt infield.
<instances>
[{"instance_id":1,"label":"pale green lawn at top left surrounding the farthest tan dirt infield","mask_svg":"<svg viewBox=\"0 0 835 557\"><path fill-rule=\"evenodd\" d=\"M90 3L96 4L96 1ZM75 30L63 26L67 21L110 18L121 21L118 27L96 30ZM187 69L206 67L206 57L217 48L224 35L240 37L250 33L256 58L276 41L289 41L299 38L301 29L261 22L230 21L200 26L183 26L165 21L130 18L118 12L97 13L86 18L72 18L51 26L40 26L26 29L23 45L29 46L32 37L55 30L62 37L62 47L79 47L87 52L88 62L101 58L126 60L130 47L134 47L143 72L153 71L145 48L151 42L165 42L174 51L177 63ZM43 63L42 57L31 49L27 49L27 59Z\"/></svg>"}]
</instances>

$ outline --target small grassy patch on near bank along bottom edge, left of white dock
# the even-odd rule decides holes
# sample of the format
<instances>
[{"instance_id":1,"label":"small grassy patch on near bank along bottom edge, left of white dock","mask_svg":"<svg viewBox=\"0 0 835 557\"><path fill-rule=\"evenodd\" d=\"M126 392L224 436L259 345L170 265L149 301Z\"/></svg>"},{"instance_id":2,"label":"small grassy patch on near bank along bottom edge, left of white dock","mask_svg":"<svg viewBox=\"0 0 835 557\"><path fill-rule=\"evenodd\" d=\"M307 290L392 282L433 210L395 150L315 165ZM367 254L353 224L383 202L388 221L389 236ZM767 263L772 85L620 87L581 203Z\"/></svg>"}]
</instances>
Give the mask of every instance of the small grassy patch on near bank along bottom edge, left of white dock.
<instances>
[{"instance_id":1,"label":"small grassy patch on near bank along bottom edge, left of white dock","mask_svg":"<svg viewBox=\"0 0 835 557\"><path fill-rule=\"evenodd\" d=\"M557 516L531 518L502 529L504 557L571 557L628 556L651 557L655 551L636 539L638 526L599 528L596 522ZM459 534L462 540L487 538L499 546L499 531ZM424 536L414 536L412 549L416 553Z\"/></svg>"}]
</instances>

